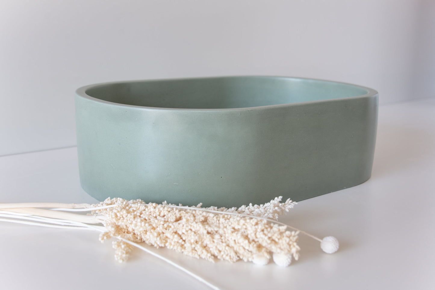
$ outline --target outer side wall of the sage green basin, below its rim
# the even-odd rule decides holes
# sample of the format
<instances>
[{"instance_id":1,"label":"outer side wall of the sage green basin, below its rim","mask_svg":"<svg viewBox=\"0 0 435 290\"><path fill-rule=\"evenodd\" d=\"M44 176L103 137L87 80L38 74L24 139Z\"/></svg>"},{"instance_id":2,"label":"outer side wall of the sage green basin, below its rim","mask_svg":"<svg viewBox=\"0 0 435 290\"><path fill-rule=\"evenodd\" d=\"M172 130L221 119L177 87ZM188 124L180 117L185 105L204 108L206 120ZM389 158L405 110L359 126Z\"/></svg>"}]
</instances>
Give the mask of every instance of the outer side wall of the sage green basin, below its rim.
<instances>
[{"instance_id":1,"label":"outer side wall of the sage green basin, below its rim","mask_svg":"<svg viewBox=\"0 0 435 290\"><path fill-rule=\"evenodd\" d=\"M241 206L371 175L378 95L232 110L121 106L76 95L80 182L98 200Z\"/></svg>"}]
</instances>

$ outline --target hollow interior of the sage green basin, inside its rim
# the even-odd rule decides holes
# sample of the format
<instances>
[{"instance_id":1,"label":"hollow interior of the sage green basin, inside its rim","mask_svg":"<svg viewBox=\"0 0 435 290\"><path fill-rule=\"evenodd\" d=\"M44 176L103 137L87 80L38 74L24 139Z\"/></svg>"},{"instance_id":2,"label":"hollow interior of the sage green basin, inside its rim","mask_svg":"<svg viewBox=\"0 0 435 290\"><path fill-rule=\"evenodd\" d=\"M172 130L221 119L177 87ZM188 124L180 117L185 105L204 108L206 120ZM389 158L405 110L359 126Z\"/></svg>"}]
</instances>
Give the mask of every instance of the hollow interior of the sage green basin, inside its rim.
<instances>
[{"instance_id":1,"label":"hollow interior of the sage green basin, inside its rim","mask_svg":"<svg viewBox=\"0 0 435 290\"><path fill-rule=\"evenodd\" d=\"M102 84L90 97L154 108L228 109L291 104L367 94L364 88L300 78L223 77Z\"/></svg>"}]
</instances>

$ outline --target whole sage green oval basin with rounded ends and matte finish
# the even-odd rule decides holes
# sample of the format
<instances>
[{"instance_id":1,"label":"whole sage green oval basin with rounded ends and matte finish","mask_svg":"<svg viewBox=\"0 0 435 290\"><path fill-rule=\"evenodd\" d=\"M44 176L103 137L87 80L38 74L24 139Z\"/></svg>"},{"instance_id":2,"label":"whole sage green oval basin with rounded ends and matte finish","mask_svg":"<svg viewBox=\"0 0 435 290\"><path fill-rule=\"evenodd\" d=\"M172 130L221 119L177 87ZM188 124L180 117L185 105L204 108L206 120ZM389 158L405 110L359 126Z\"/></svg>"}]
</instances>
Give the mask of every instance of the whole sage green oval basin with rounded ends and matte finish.
<instances>
[{"instance_id":1,"label":"whole sage green oval basin with rounded ends and matte finish","mask_svg":"<svg viewBox=\"0 0 435 290\"><path fill-rule=\"evenodd\" d=\"M307 199L365 182L378 93L332 81L219 77L76 91L80 183L96 199L204 206Z\"/></svg>"}]
</instances>

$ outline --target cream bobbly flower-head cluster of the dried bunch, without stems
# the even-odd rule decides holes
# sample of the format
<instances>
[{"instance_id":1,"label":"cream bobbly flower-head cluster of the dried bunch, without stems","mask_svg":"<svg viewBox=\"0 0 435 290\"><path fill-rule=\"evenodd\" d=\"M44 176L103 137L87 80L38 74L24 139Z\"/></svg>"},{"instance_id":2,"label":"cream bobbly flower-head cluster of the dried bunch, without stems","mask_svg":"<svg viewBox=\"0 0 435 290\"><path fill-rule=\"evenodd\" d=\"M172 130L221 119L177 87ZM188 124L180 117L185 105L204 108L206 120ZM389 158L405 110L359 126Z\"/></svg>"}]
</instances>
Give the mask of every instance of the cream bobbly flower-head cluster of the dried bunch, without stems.
<instances>
[{"instance_id":1,"label":"cream bobbly flower-head cluster of the dried bunch, without stems","mask_svg":"<svg viewBox=\"0 0 435 290\"><path fill-rule=\"evenodd\" d=\"M250 205L242 210L275 216L288 209L291 203L288 201L281 206L280 200L274 199L268 206ZM286 226L264 219L225 214L225 209L220 209L222 213L197 210L200 205L180 209L167 204L145 203L140 199L106 199L99 205L116 205L95 209L95 212L106 217L103 224L107 232L100 235L101 241L120 236L136 243L167 247L210 261L215 258L230 262L254 261L258 255L269 259L272 253L291 254L295 260L299 257L298 231L287 231ZM122 257L120 260L125 260Z\"/></svg>"}]
</instances>

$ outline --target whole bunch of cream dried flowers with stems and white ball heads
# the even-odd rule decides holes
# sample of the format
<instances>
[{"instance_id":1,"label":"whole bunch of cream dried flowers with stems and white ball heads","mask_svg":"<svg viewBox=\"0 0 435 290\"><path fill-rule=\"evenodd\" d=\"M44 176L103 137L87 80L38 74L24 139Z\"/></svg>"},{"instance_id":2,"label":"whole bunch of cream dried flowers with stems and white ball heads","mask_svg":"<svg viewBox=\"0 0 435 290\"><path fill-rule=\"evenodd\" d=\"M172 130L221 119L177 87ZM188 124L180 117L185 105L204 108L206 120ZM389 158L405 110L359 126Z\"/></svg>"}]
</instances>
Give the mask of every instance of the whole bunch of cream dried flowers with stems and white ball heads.
<instances>
[{"instance_id":1,"label":"whole bunch of cream dried flowers with stems and white ball heads","mask_svg":"<svg viewBox=\"0 0 435 290\"><path fill-rule=\"evenodd\" d=\"M338 240L332 236L323 240L272 219L293 208L290 199L281 203L282 196L264 205L240 208L201 208L145 203L140 199L106 199L97 205L75 203L0 203L0 221L68 229L99 231L103 242L116 237L113 242L115 259L127 260L136 246L153 256L191 275L212 289L214 284L177 263L137 244L145 242L156 247L166 246L181 253L213 261L252 261L267 264L270 256L279 266L288 266L292 256L299 257L298 233L321 242L326 253L338 250ZM50 208L50 209L41 209ZM90 211L78 215L65 211ZM96 224L103 223L104 226ZM294 231L287 231L287 228Z\"/></svg>"}]
</instances>

